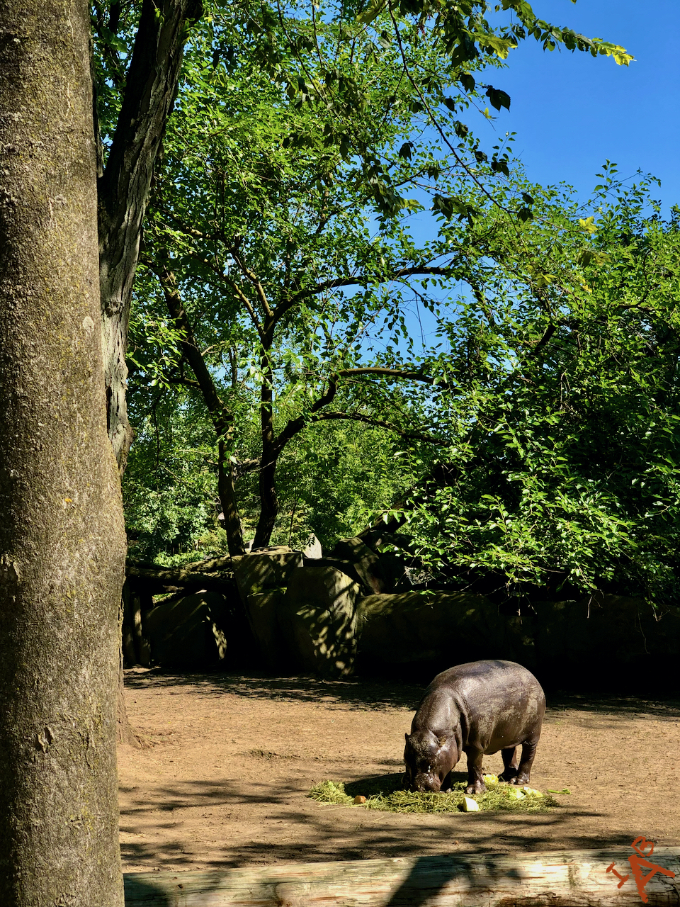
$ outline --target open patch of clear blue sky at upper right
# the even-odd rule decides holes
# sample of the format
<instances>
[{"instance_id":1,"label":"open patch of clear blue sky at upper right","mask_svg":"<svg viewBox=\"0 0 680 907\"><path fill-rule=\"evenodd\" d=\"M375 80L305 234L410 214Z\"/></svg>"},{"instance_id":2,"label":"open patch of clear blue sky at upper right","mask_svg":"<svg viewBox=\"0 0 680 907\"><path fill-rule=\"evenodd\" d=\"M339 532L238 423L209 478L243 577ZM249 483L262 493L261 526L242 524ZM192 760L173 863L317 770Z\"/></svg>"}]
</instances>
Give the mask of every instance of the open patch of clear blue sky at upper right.
<instances>
[{"instance_id":1,"label":"open patch of clear blue sky at upper right","mask_svg":"<svg viewBox=\"0 0 680 907\"><path fill-rule=\"evenodd\" d=\"M534 12L588 37L626 47L635 63L569 51L544 52L533 39L510 53L492 83L510 94L493 126L471 119L482 144L492 129L517 132L515 152L529 179L566 181L586 197L608 158L621 176L639 168L662 181L655 197L680 203L680 0L533 0Z\"/></svg>"}]
</instances>

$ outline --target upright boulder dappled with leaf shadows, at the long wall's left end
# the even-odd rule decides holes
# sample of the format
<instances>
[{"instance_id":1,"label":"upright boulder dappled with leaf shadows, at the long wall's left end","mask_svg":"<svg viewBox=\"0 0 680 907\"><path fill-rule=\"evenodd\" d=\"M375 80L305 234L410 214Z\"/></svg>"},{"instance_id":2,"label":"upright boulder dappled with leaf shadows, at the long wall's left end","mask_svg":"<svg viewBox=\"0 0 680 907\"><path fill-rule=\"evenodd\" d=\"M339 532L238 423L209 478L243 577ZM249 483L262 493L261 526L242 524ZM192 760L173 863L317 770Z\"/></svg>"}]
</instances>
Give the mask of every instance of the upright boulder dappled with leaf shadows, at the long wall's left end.
<instances>
[{"instance_id":1,"label":"upright boulder dappled with leaf shadows, at the long wall's left end","mask_svg":"<svg viewBox=\"0 0 680 907\"><path fill-rule=\"evenodd\" d=\"M289 666L325 678L354 670L359 586L344 572L308 561L291 574L278 602L278 626Z\"/></svg>"}]
</instances>

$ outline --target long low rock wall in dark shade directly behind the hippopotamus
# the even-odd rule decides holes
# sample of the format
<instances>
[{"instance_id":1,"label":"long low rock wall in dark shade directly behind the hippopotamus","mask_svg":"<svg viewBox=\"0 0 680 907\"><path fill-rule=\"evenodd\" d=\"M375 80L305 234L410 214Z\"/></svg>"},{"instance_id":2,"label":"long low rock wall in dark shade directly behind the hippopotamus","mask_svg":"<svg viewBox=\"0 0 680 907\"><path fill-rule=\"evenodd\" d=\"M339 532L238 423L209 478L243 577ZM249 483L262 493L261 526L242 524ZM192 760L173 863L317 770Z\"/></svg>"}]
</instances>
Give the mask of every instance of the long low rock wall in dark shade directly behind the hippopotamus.
<instances>
[{"instance_id":1,"label":"long low rock wall in dark shade directly behind the hippopotamus","mask_svg":"<svg viewBox=\"0 0 680 907\"><path fill-rule=\"evenodd\" d=\"M366 596L357 602L359 670L418 673L507 658L553 686L677 685L680 610L597 595L537 601L505 616L483 596L455 592Z\"/></svg>"}]
</instances>

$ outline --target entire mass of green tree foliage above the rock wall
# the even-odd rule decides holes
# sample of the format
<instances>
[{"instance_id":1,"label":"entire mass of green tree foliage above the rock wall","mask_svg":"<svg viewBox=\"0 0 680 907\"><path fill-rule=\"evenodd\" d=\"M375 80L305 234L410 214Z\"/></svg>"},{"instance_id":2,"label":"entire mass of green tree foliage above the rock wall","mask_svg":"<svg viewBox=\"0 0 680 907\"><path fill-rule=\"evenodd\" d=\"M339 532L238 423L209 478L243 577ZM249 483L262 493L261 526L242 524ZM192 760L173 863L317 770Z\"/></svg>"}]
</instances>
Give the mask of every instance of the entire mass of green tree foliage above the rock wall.
<instances>
[{"instance_id":1,"label":"entire mass of green tree foliage above the rock wall","mask_svg":"<svg viewBox=\"0 0 680 907\"><path fill-rule=\"evenodd\" d=\"M144 556L224 549L220 506L258 543L385 511L450 582L674 594L675 220L608 164L585 204L534 186L469 128L528 35L630 57L469 6L193 31L131 322Z\"/></svg>"}]
</instances>

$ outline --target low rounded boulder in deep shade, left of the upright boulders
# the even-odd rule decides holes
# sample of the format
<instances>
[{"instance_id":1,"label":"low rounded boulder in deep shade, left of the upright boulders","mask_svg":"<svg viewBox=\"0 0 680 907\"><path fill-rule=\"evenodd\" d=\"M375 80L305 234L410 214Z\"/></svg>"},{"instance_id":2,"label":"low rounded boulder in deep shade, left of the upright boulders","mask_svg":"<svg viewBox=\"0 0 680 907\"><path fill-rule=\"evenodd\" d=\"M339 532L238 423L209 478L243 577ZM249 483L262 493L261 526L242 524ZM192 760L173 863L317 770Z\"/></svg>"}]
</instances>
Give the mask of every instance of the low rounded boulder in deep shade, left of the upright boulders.
<instances>
[{"instance_id":1,"label":"low rounded boulder in deep shade, left of the upright boulders","mask_svg":"<svg viewBox=\"0 0 680 907\"><path fill-rule=\"evenodd\" d=\"M151 661L163 668L206 670L224 661L230 609L217 592L197 592L161 602L143 615Z\"/></svg>"}]
</instances>

